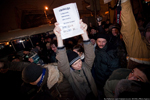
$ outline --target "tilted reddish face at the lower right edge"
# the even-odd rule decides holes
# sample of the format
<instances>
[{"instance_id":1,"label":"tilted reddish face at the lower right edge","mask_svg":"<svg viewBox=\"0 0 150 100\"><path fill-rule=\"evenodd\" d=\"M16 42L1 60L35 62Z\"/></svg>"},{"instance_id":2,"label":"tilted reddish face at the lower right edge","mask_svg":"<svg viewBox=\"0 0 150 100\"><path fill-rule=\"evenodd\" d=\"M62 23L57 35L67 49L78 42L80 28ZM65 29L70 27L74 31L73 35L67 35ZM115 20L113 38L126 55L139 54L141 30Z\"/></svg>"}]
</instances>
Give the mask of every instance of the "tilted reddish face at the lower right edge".
<instances>
[{"instance_id":1,"label":"tilted reddish face at the lower right edge","mask_svg":"<svg viewBox=\"0 0 150 100\"><path fill-rule=\"evenodd\" d=\"M147 82L148 79L146 75L140 71L138 68L134 68L132 72L129 74L128 80L135 80L141 82Z\"/></svg>"}]
</instances>

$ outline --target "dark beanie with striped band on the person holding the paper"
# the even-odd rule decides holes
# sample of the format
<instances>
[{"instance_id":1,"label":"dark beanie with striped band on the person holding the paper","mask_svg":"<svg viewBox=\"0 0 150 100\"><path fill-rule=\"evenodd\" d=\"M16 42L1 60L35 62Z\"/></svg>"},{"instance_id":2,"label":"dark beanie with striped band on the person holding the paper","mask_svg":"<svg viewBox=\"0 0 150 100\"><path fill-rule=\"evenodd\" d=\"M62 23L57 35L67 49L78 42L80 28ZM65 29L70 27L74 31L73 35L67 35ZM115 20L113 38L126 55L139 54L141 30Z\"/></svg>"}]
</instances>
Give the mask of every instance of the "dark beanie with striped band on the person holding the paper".
<instances>
[{"instance_id":1,"label":"dark beanie with striped band on the person holding the paper","mask_svg":"<svg viewBox=\"0 0 150 100\"><path fill-rule=\"evenodd\" d=\"M69 65L71 66L74 62L76 62L78 59L80 59L79 55L74 52L70 51L67 53L68 60L69 60Z\"/></svg>"}]
</instances>

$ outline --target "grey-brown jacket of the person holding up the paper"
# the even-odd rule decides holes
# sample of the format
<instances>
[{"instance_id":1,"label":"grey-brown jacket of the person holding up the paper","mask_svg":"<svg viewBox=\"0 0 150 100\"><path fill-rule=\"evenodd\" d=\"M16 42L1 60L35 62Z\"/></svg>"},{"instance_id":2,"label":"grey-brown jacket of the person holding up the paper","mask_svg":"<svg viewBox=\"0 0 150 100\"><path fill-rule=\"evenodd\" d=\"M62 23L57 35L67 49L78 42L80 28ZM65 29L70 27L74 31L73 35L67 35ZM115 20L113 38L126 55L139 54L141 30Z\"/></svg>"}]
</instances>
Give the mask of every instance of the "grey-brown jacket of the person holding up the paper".
<instances>
[{"instance_id":1,"label":"grey-brown jacket of the person holding up the paper","mask_svg":"<svg viewBox=\"0 0 150 100\"><path fill-rule=\"evenodd\" d=\"M85 100L89 92L93 92L93 94L97 97L96 84L91 74L91 68L95 58L94 47L90 42L86 42L84 43L84 50L85 50L85 60L82 63L82 69L80 71L73 70L72 68L70 68L65 48L58 49L56 56L56 58L58 59L59 70L68 79L78 100ZM85 72L86 76L84 75L83 71ZM88 86L86 77L89 81L92 91Z\"/></svg>"}]
</instances>

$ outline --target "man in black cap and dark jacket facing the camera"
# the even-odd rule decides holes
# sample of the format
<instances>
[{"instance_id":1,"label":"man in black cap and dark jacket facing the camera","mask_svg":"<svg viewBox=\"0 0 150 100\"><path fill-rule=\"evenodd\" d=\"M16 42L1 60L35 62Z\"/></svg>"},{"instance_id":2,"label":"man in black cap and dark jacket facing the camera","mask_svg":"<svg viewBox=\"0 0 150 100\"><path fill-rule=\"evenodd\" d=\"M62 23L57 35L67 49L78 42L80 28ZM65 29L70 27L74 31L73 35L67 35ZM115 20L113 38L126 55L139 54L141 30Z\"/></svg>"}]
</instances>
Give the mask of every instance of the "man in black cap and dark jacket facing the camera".
<instances>
[{"instance_id":1,"label":"man in black cap and dark jacket facing the camera","mask_svg":"<svg viewBox=\"0 0 150 100\"><path fill-rule=\"evenodd\" d=\"M103 87L106 80L115 69L119 68L117 50L108 48L108 40L107 34L98 34L96 40L94 76L100 98L103 98Z\"/></svg>"}]
</instances>

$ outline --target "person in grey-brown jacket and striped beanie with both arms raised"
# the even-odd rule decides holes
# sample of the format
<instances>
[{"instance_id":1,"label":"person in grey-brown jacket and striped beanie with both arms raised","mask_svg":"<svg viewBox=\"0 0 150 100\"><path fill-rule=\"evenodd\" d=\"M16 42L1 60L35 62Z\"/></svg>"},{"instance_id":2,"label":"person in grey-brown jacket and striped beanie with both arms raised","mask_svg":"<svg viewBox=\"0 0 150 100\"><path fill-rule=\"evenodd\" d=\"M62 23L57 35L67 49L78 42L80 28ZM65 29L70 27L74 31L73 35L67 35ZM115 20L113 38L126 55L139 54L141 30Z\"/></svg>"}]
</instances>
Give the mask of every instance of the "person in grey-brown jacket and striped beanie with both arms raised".
<instances>
[{"instance_id":1,"label":"person in grey-brown jacket and striped beanie with both arms raised","mask_svg":"<svg viewBox=\"0 0 150 100\"><path fill-rule=\"evenodd\" d=\"M56 59L58 60L58 69L64 74L71 84L78 100L96 100L97 88L91 74L91 68L94 62L94 47L87 35L87 25L80 20L80 28L83 31L81 35L84 43L85 60L81 61L75 52L66 53L66 48L61 37L59 23L55 23L54 33L57 37L58 51Z\"/></svg>"}]
</instances>

